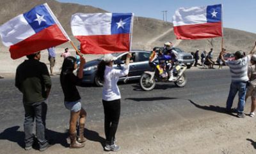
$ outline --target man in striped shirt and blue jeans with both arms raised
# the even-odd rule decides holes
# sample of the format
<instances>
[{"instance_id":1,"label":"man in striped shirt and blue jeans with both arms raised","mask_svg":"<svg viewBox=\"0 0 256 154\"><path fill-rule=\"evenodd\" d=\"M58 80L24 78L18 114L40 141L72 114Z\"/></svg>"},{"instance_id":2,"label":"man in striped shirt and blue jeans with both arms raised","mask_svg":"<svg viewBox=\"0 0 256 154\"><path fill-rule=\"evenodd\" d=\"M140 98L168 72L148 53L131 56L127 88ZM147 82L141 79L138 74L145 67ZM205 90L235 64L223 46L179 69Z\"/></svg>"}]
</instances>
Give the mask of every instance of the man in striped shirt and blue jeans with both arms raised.
<instances>
[{"instance_id":1,"label":"man in striped shirt and blue jeans with both arms raised","mask_svg":"<svg viewBox=\"0 0 256 154\"><path fill-rule=\"evenodd\" d=\"M223 62L225 62L226 66L230 67L230 74L231 74L231 84L230 84L230 90L228 94L227 99L227 112L232 112L232 104L234 101L234 97L236 96L237 92L239 92L238 97L238 105L237 105L237 117L244 118L244 104L245 104L245 95L246 95L246 83L249 80L248 78L248 63L250 62L250 59L252 57L252 53L256 49L256 42L253 46L252 51L249 53L249 55L244 57L244 53L242 51L237 51L235 53L235 60L229 61L224 60L223 53L224 51L221 51L220 57Z\"/></svg>"}]
</instances>

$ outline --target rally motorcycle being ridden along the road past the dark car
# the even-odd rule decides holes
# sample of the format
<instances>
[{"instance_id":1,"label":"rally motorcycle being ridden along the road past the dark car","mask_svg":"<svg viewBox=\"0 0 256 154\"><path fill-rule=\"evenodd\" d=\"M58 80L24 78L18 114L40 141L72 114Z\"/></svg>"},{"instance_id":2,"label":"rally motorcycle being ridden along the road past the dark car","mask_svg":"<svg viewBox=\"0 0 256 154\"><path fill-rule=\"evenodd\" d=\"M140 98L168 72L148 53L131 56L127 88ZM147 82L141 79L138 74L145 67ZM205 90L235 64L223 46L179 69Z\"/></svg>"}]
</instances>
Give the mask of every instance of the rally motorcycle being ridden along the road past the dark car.
<instances>
[{"instance_id":1,"label":"rally motorcycle being ridden along the road past the dark car","mask_svg":"<svg viewBox=\"0 0 256 154\"><path fill-rule=\"evenodd\" d=\"M156 82L173 82L177 87L184 87L187 83L186 71L187 66L176 62L173 66L173 80L169 81L170 73L168 71L161 72L159 62L157 60L149 60L149 64L153 67L153 71L145 71L140 78L140 87L149 91L156 87Z\"/></svg>"}]
</instances>

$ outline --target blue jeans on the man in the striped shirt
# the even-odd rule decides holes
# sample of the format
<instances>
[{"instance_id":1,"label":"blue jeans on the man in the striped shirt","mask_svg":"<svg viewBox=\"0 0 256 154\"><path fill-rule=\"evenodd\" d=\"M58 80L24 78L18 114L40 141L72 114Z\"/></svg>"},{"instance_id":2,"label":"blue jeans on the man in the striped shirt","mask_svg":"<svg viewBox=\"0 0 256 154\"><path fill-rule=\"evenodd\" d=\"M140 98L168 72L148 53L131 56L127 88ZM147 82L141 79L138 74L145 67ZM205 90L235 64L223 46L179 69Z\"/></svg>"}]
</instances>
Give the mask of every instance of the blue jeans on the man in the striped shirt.
<instances>
[{"instance_id":1,"label":"blue jeans on the man in the striped shirt","mask_svg":"<svg viewBox=\"0 0 256 154\"><path fill-rule=\"evenodd\" d=\"M245 95L246 95L246 82L238 81L234 82L232 81L230 84L230 90L228 94L228 100L227 100L227 109L232 108L232 104L234 101L234 98L238 92L238 106L237 106L237 111L239 113L243 113L244 111L244 104L245 104Z\"/></svg>"}]
</instances>

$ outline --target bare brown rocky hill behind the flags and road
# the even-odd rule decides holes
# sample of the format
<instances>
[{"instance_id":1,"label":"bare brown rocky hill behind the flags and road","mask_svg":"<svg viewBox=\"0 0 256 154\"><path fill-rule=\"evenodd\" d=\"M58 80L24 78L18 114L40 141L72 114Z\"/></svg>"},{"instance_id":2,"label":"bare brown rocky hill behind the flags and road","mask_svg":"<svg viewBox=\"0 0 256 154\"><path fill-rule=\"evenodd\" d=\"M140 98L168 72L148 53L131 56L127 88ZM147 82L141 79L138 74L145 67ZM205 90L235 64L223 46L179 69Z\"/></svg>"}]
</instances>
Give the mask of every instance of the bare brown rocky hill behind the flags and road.
<instances>
[{"instance_id":1,"label":"bare brown rocky hill behind the flags and road","mask_svg":"<svg viewBox=\"0 0 256 154\"><path fill-rule=\"evenodd\" d=\"M0 24L7 22L11 18L30 10L38 4L48 3L64 29L72 40L78 45L78 42L72 37L70 29L71 15L77 12L82 13L97 13L107 12L100 8L95 8L88 5L79 5L72 3L60 3L55 0L1 0L0 1ZM256 40L256 34L239 31L236 29L224 28L224 47L229 52L236 50L244 50L248 52ZM172 31L172 23L163 22L154 18L135 17L134 29L132 33L132 48L141 50L150 50L154 46L163 46L165 41L173 41L176 46L182 48L186 52L193 52L197 48L200 50L207 50L214 48L216 55L220 51L221 38L202 39L202 40L179 40L175 39ZM1 45L3 46L3 45ZM68 43L63 46L70 46Z\"/></svg>"}]
</instances>

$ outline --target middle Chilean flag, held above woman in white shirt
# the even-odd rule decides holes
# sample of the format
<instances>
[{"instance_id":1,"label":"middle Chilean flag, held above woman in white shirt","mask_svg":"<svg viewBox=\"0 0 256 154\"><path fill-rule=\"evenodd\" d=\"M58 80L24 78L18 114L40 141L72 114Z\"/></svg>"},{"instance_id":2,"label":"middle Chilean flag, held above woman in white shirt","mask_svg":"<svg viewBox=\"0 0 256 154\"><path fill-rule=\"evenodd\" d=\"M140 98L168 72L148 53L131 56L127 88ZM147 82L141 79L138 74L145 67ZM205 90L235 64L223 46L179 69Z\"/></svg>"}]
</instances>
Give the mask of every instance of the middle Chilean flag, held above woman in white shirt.
<instances>
[{"instance_id":1,"label":"middle Chilean flag, held above woman in white shirt","mask_svg":"<svg viewBox=\"0 0 256 154\"><path fill-rule=\"evenodd\" d=\"M131 48L133 13L76 13L71 29L81 53L127 52Z\"/></svg>"}]
</instances>

